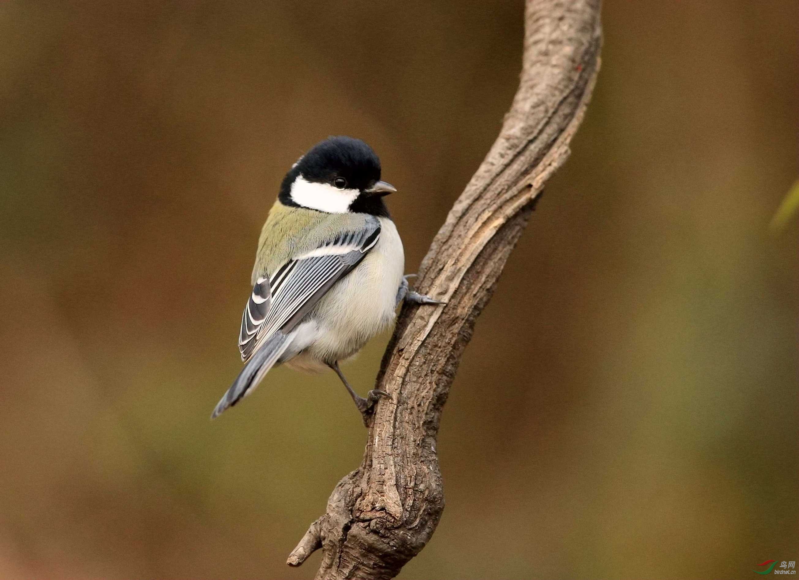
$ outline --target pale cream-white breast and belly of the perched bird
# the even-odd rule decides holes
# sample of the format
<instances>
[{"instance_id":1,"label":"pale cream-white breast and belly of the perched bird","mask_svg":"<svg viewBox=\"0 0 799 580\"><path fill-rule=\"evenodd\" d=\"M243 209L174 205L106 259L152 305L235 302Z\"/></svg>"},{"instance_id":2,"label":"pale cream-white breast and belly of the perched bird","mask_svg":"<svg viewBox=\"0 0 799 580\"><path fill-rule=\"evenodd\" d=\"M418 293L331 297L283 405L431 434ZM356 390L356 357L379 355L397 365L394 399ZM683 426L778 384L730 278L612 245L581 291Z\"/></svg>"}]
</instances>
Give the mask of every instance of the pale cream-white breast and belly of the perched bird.
<instances>
[{"instance_id":1,"label":"pale cream-white breast and belly of the perched bird","mask_svg":"<svg viewBox=\"0 0 799 580\"><path fill-rule=\"evenodd\" d=\"M391 219L380 218L380 239L356 266L319 301L312 317L296 329L286 364L305 371L327 369L344 361L396 318L396 295L405 257ZM300 349L301 347L301 349Z\"/></svg>"}]
</instances>

